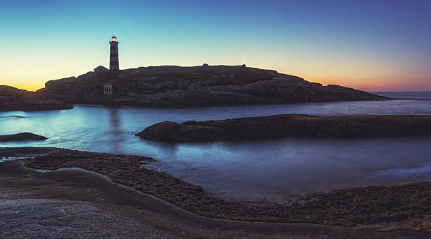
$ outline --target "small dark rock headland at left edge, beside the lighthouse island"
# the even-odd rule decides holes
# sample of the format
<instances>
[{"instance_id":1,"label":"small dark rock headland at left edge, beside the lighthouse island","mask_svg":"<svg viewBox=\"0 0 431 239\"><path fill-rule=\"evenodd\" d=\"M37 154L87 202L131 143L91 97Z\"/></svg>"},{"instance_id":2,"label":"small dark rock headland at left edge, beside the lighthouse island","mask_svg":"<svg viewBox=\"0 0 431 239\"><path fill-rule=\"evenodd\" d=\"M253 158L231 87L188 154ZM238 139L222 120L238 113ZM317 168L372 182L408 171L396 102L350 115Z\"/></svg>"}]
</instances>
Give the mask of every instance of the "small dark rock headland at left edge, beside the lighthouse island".
<instances>
[{"instance_id":1,"label":"small dark rock headland at left edge, beside the lighthouse island","mask_svg":"<svg viewBox=\"0 0 431 239\"><path fill-rule=\"evenodd\" d=\"M0 85L0 111L43 111L51 109L72 109L61 97L41 89L36 92Z\"/></svg>"}]
</instances>

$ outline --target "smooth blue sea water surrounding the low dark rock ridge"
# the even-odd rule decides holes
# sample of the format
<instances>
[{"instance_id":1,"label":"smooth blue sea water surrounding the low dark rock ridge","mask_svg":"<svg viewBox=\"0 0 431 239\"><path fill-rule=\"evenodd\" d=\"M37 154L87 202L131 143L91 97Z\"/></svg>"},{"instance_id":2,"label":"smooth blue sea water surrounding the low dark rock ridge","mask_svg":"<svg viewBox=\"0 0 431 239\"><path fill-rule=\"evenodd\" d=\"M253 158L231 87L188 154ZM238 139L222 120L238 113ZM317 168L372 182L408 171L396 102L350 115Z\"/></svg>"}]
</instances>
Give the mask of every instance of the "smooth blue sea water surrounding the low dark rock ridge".
<instances>
[{"instance_id":1,"label":"smooth blue sea water surrounding the low dark rock ridge","mask_svg":"<svg viewBox=\"0 0 431 239\"><path fill-rule=\"evenodd\" d=\"M431 115L431 92L379 92L391 101L330 102L196 109L105 108L0 112L0 135L32 132L49 146L153 157L159 171L231 197L280 200L289 195L356 185L431 179L431 138L354 140L283 138L247 142L166 144L135 133L159 121L209 120L270 114ZM17 117L18 116L18 117Z\"/></svg>"}]
</instances>

